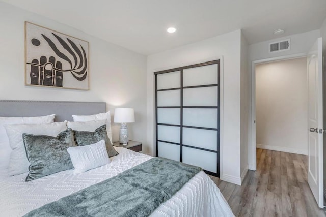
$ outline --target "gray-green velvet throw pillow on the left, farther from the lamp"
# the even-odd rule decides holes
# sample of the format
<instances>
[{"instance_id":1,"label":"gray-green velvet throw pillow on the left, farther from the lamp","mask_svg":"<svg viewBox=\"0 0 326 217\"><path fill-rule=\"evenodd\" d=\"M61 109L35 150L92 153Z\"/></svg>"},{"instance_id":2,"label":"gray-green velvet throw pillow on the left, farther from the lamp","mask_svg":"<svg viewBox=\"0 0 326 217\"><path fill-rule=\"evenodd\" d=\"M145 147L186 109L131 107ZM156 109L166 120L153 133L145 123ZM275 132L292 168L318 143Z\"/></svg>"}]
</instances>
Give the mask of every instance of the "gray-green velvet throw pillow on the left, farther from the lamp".
<instances>
[{"instance_id":1,"label":"gray-green velvet throw pillow on the left, farther from the lamp","mask_svg":"<svg viewBox=\"0 0 326 217\"><path fill-rule=\"evenodd\" d=\"M76 146L71 128L57 137L24 133L22 138L31 163L26 181L73 168L67 151L67 148Z\"/></svg>"}]
</instances>

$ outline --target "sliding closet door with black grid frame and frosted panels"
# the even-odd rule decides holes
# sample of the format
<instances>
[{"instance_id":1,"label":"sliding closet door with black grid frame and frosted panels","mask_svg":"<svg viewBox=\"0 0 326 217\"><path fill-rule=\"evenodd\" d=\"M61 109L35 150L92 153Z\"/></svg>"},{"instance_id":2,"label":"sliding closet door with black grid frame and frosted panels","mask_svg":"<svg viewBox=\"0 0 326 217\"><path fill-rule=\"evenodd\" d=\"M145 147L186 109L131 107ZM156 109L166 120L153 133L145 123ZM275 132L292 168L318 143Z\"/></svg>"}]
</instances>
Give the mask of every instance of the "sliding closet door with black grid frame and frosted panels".
<instances>
[{"instance_id":1,"label":"sliding closet door with black grid frame and frosted panels","mask_svg":"<svg viewBox=\"0 0 326 217\"><path fill-rule=\"evenodd\" d=\"M155 72L156 155L219 176L220 61Z\"/></svg>"}]
</instances>

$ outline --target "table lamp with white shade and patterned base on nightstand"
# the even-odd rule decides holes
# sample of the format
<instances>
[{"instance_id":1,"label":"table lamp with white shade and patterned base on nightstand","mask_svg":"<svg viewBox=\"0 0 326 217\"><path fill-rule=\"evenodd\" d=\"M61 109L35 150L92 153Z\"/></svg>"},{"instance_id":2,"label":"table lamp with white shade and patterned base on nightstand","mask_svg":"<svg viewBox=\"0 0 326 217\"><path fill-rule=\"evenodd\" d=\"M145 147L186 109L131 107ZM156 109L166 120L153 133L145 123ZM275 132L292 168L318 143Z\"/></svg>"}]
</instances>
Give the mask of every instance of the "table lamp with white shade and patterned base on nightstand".
<instances>
[{"instance_id":1,"label":"table lamp with white shade and patterned base on nightstand","mask_svg":"<svg viewBox=\"0 0 326 217\"><path fill-rule=\"evenodd\" d=\"M129 142L127 123L134 122L133 108L116 108L114 110L114 122L121 123L119 143L127 146Z\"/></svg>"}]
</instances>

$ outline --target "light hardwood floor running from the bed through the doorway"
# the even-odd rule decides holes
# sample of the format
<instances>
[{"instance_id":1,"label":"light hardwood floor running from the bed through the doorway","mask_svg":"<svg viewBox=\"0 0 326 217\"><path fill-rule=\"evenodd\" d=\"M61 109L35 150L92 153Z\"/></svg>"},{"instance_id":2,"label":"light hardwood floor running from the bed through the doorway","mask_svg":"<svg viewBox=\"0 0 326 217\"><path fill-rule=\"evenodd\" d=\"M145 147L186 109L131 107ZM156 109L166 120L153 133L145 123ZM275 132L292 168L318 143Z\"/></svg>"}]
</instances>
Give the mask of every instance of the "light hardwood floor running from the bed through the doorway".
<instances>
[{"instance_id":1,"label":"light hardwood floor running from the bed through the doorway","mask_svg":"<svg viewBox=\"0 0 326 217\"><path fill-rule=\"evenodd\" d=\"M235 216L326 216L307 182L307 156L257 148L241 186L211 176Z\"/></svg>"}]
</instances>

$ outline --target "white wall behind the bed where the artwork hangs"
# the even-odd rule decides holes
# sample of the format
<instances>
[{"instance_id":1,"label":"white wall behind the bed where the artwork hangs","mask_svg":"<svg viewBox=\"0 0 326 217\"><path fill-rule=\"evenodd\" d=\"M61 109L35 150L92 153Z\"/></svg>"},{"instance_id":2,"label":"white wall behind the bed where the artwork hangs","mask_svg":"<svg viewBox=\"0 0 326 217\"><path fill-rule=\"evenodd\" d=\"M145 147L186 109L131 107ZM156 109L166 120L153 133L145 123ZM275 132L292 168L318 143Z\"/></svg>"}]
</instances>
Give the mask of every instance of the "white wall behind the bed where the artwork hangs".
<instances>
[{"instance_id":1,"label":"white wall behind the bed where the artwork hangs","mask_svg":"<svg viewBox=\"0 0 326 217\"><path fill-rule=\"evenodd\" d=\"M30 21L90 43L90 90L24 86L24 21ZM0 99L99 101L113 114L116 107L132 107L136 122L129 137L143 142L147 152L147 57L107 43L67 25L0 2ZM113 117L113 116L112 116ZM113 140L119 140L118 124Z\"/></svg>"}]
</instances>

